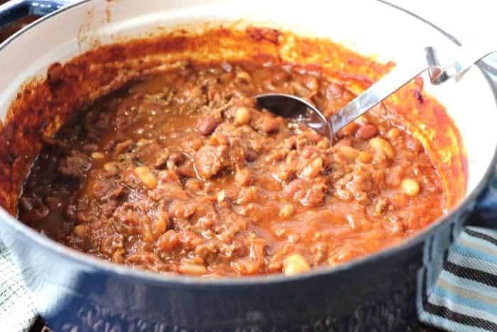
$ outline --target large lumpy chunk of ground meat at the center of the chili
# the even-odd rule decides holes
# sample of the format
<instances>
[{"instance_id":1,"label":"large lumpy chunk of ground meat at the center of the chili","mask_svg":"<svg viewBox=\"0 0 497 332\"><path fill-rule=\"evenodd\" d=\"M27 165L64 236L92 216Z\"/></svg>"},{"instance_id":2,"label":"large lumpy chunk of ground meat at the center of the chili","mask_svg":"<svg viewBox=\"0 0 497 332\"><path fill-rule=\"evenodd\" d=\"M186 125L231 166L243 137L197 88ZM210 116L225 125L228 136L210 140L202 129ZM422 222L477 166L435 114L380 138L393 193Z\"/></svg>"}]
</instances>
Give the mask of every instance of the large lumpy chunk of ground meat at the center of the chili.
<instances>
[{"instance_id":1,"label":"large lumpy chunk of ground meat at the center of the chili","mask_svg":"<svg viewBox=\"0 0 497 332\"><path fill-rule=\"evenodd\" d=\"M228 147L225 145L202 146L195 154L195 169L202 178L211 178L224 166L227 154Z\"/></svg>"}]
</instances>

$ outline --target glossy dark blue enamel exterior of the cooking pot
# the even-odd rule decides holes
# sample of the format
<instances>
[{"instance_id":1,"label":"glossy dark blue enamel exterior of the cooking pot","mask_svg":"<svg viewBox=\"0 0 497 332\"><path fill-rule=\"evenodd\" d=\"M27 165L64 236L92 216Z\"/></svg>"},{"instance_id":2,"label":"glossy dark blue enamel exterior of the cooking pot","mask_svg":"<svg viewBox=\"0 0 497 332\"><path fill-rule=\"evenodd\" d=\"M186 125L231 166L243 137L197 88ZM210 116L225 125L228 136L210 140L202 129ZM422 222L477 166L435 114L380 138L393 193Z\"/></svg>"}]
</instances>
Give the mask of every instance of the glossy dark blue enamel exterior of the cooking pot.
<instances>
[{"instance_id":1,"label":"glossy dark blue enamel exterior of the cooking pot","mask_svg":"<svg viewBox=\"0 0 497 332\"><path fill-rule=\"evenodd\" d=\"M0 26L32 11L34 3L61 4L18 1L0 13ZM463 205L420 235L296 277L197 279L133 271L77 255L3 210L0 235L54 331L407 331L429 291L425 274L439 272L465 225L497 216L496 189L487 186L495 162Z\"/></svg>"}]
</instances>

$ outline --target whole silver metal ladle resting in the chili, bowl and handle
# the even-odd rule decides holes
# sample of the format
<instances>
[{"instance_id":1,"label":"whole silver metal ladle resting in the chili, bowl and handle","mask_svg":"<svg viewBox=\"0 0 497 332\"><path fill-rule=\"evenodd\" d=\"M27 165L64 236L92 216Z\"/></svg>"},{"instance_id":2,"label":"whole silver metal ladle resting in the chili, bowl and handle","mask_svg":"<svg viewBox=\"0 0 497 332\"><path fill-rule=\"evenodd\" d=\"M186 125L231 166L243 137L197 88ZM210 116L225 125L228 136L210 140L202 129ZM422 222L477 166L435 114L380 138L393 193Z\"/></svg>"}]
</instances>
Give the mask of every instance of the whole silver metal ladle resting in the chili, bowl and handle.
<instances>
[{"instance_id":1,"label":"whole silver metal ladle resting in the chili, bowl and handle","mask_svg":"<svg viewBox=\"0 0 497 332\"><path fill-rule=\"evenodd\" d=\"M454 76L461 75L471 65L496 49L488 50L488 45L485 44L465 44L459 47L457 56L454 57L455 60L448 61L449 65L441 65L437 57L437 49L431 46L426 47L422 50L422 54L413 57L414 60L397 65L329 119L310 102L295 95L265 93L256 95L255 98L259 107L305 124L322 136L327 136L330 144L334 144L335 134L340 129L368 112L369 109L378 105L425 70L428 70L432 84L439 85Z\"/></svg>"}]
</instances>

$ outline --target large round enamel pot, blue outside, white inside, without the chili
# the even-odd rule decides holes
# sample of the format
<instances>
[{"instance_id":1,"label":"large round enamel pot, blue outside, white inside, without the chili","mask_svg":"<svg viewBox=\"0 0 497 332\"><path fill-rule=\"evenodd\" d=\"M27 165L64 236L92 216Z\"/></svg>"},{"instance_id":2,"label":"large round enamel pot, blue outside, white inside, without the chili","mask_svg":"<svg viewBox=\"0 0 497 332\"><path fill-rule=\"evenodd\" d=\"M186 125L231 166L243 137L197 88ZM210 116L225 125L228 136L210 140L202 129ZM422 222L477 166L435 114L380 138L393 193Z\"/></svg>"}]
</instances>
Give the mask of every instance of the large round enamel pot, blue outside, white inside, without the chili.
<instances>
[{"instance_id":1,"label":"large round enamel pot, blue outside, white inside, without the chili","mask_svg":"<svg viewBox=\"0 0 497 332\"><path fill-rule=\"evenodd\" d=\"M62 4L17 2L44 9ZM439 28L381 1L77 1L1 44L0 114L5 117L22 82L92 48L94 36L111 43L155 26L238 19L314 33L394 61L406 48L437 45L447 54L457 48ZM460 80L426 87L447 107L466 146L464 200L415 237L375 255L290 277L198 279L82 255L3 209L1 239L54 331L405 331L430 291L427 276L437 276L454 237L497 207L487 186L497 145L496 87L488 70L471 68Z\"/></svg>"}]
</instances>

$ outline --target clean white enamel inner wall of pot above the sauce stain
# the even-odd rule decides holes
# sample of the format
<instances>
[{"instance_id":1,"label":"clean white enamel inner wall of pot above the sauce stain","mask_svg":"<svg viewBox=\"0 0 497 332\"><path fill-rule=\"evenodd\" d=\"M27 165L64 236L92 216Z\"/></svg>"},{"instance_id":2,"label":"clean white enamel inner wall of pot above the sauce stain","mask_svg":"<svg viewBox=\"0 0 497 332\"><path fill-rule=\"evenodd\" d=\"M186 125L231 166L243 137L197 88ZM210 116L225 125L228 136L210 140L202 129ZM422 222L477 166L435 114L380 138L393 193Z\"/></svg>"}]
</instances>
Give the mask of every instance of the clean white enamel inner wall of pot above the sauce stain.
<instances>
[{"instance_id":1,"label":"clean white enamel inner wall of pot above the sauce stain","mask_svg":"<svg viewBox=\"0 0 497 332\"><path fill-rule=\"evenodd\" d=\"M426 23L377 1L84 1L38 23L0 50L1 117L23 81L43 75L56 60L82 53L95 38L111 43L115 38L136 36L156 27L240 19L327 37L359 53L376 55L378 60L399 62L405 60L408 50L425 45L447 48L447 52L454 48ZM458 82L425 87L447 107L459 127L469 159L470 193L488 168L497 142L497 112L491 88L477 68Z\"/></svg>"}]
</instances>

